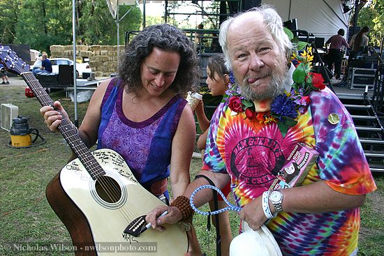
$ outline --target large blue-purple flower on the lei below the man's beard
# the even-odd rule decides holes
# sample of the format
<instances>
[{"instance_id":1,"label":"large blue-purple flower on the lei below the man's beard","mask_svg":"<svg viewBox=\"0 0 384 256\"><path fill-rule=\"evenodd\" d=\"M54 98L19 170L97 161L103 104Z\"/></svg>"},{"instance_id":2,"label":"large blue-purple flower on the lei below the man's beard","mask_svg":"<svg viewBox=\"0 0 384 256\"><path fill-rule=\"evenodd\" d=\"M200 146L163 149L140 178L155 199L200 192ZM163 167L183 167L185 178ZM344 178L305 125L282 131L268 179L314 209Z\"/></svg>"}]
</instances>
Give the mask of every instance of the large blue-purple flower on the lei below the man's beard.
<instances>
[{"instance_id":1,"label":"large blue-purple flower on the lei below the man's beard","mask_svg":"<svg viewBox=\"0 0 384 256\"><path fill-rule=\"evenodd\" d=\"M296 104L284 93L277 96L271 103L271 112L274 112L274 116L279 117L282 120L282 116L287 116L291 119L297 117L297 111L295 109Z\"/></svg>"}]
</instances>

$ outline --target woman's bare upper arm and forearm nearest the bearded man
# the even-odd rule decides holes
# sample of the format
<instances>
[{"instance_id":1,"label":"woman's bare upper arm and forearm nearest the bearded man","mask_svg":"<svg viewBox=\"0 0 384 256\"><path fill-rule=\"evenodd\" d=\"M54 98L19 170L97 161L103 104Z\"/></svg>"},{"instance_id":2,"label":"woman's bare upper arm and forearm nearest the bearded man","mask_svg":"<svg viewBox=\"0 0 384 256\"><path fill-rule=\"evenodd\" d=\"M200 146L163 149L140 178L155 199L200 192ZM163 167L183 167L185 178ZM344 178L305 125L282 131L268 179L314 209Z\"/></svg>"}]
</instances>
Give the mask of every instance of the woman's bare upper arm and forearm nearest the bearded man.
<instances>
[{"instance_id":1,"label":"woman's bare upper arm and forearm nearest the bearded man","mask_svg":"<svg viewBox=\"0 0 384 256\"><path fill-rule=\"evenodd\" d=\"M175 136L172 140L170 160L170 183L172 195L176 198L183 195L189 184L189 165L195 146L195 120L190 107L184 107Z\"/></svg>"}]
</instances>

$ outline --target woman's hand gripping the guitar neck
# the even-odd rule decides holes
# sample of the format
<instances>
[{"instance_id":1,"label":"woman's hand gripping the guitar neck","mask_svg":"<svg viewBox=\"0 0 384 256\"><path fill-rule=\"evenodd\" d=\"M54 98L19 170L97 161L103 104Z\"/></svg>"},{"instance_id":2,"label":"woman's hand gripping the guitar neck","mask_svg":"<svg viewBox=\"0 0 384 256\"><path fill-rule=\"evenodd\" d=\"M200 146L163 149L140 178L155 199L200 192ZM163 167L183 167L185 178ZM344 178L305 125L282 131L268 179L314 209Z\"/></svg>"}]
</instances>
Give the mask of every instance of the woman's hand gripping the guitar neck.
<instances>
[{"instance_id":1,"label":"woman's hand gripping the guitar neck","mask_svg":"<svg viewBox=\"0 0 384 256\"><path fill-rule=\"evenodd\" d=\"M64 110L59 101L53 103L54 107L44 106L40 108L40 113L44 117L44 122L52 132L57 132L57 126L61 123L61 119L68 119L68 114ZM60 114L61 112L61 114Z\"/></svg>"}]
</instances>

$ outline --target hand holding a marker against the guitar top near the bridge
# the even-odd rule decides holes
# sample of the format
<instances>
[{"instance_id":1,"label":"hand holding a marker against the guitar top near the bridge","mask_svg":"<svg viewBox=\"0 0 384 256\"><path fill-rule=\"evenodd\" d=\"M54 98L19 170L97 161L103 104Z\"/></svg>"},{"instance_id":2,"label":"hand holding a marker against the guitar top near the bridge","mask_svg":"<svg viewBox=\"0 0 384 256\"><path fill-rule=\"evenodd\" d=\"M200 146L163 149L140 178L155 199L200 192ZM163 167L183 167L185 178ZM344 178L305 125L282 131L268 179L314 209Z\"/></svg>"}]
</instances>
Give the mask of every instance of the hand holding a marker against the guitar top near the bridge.
<instances>
[{"instance_id":1,"label":"hand holding a marker against the guitar top near the bridge","mask_svg":"<svg viewBox=\"0 0 384 256\"><path fill-rule=\"evenodd\" d=\"M161 213L164 211L168 211L168 214L165 216L161 216ZM163 231L163 224L173 224L182 220L183 214L182 212L175 206L157 206L152 211L149 211L145 220L147 223L151 223L152 228L157 229L158 231Z\"/></svg>"}]
</instances>

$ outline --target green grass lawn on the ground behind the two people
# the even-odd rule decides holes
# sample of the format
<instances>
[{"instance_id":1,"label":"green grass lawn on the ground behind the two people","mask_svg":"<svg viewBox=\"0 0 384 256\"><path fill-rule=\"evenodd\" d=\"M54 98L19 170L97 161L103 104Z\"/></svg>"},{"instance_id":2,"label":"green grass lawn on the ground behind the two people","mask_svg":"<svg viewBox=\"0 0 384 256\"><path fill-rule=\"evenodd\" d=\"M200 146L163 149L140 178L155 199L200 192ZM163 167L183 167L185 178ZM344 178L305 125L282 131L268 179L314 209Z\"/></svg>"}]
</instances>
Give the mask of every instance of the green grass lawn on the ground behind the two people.
<instances>
[{"instance_id":1,"label":"green grass lawn on the ground behind the two people","mask_svg":"<svg viewBox=\"0 0 384 256\"><path fill-rule=\"evenodd\" d=\"M64 99L64 93L53 92L50 96L54 100L61 98L61 103L73 119L73 103ZM70 149L59 133L47 130L38 112L40 103L36 98L24 96L24 86L1 86L0 103L17 105L19 114L26 116L29 126L38 129L46 141L45 144L27 149L10 148L10 133L0 129L0 255L74 255L71 251L63 250L36 252L39 248L43 250L44 246L50 248L50 244L71 245L66 227L45 199L45 186L66 165ZM77 105L80 123L87 104ZM200 169L200 161L192 160L192 177ZM384 176L375 175L375 179L378 190L368 195L367 203L362 207L358 255L381 256L384 253ZM207 206L203 207L207 211ZM236 213L231 212L230 218L232 232L236 234ZM207 218L198 214L195 215L194 223L202 250L207 255L216 255L214 227L207 232ZM10 243L14 243L13 248L18 247L21 251L7 250L6 245Z\"/></svg>"}]
</instances>

